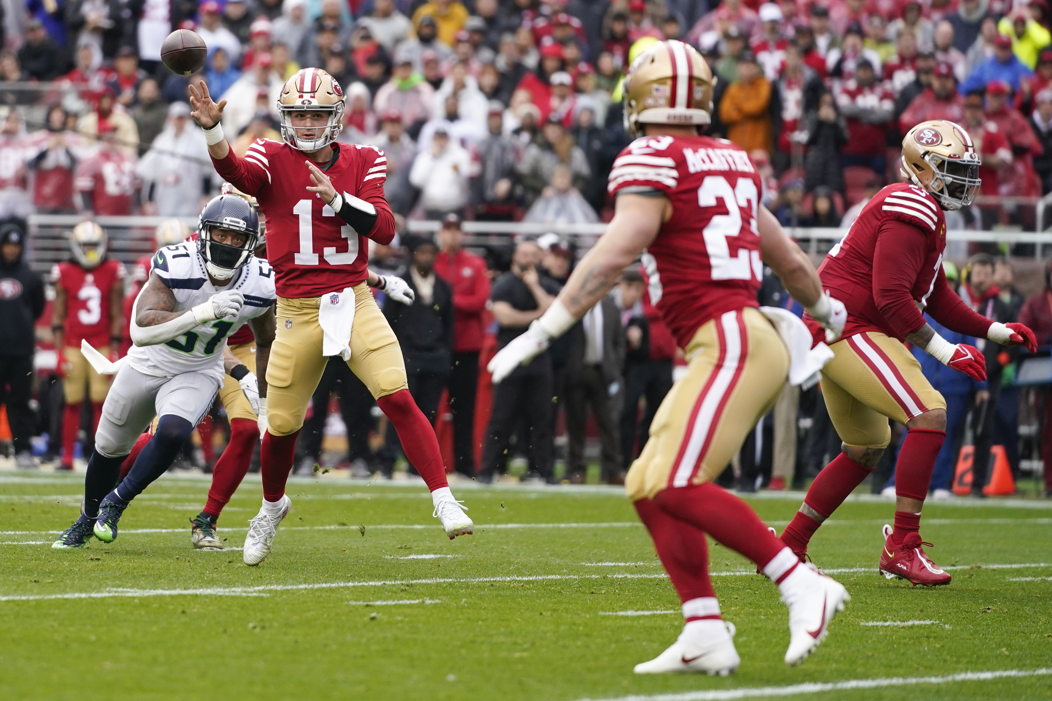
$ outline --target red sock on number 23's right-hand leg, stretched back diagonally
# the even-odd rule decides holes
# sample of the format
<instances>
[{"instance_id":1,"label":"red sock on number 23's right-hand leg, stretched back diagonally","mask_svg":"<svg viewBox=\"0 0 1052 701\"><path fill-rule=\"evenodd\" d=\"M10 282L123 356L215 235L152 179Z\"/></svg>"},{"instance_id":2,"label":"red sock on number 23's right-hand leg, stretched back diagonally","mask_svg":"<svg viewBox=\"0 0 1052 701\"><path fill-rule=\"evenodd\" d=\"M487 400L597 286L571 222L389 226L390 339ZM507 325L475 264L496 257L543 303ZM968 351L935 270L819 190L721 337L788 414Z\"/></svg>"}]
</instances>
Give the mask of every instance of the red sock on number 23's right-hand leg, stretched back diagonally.
<instances>
[{"instance_id":1,"label":"red sock on number 23's right-hand leg, stretched back diagonally","mask_svg":"<svg viewBox=\"0 0 1052 701\"><path fill-rule=\"evenodd\" d=\"M654 497L654 502L761 569L785 548L745 501L711 482L667 489Z\"/></svg>"}]
</instances>

